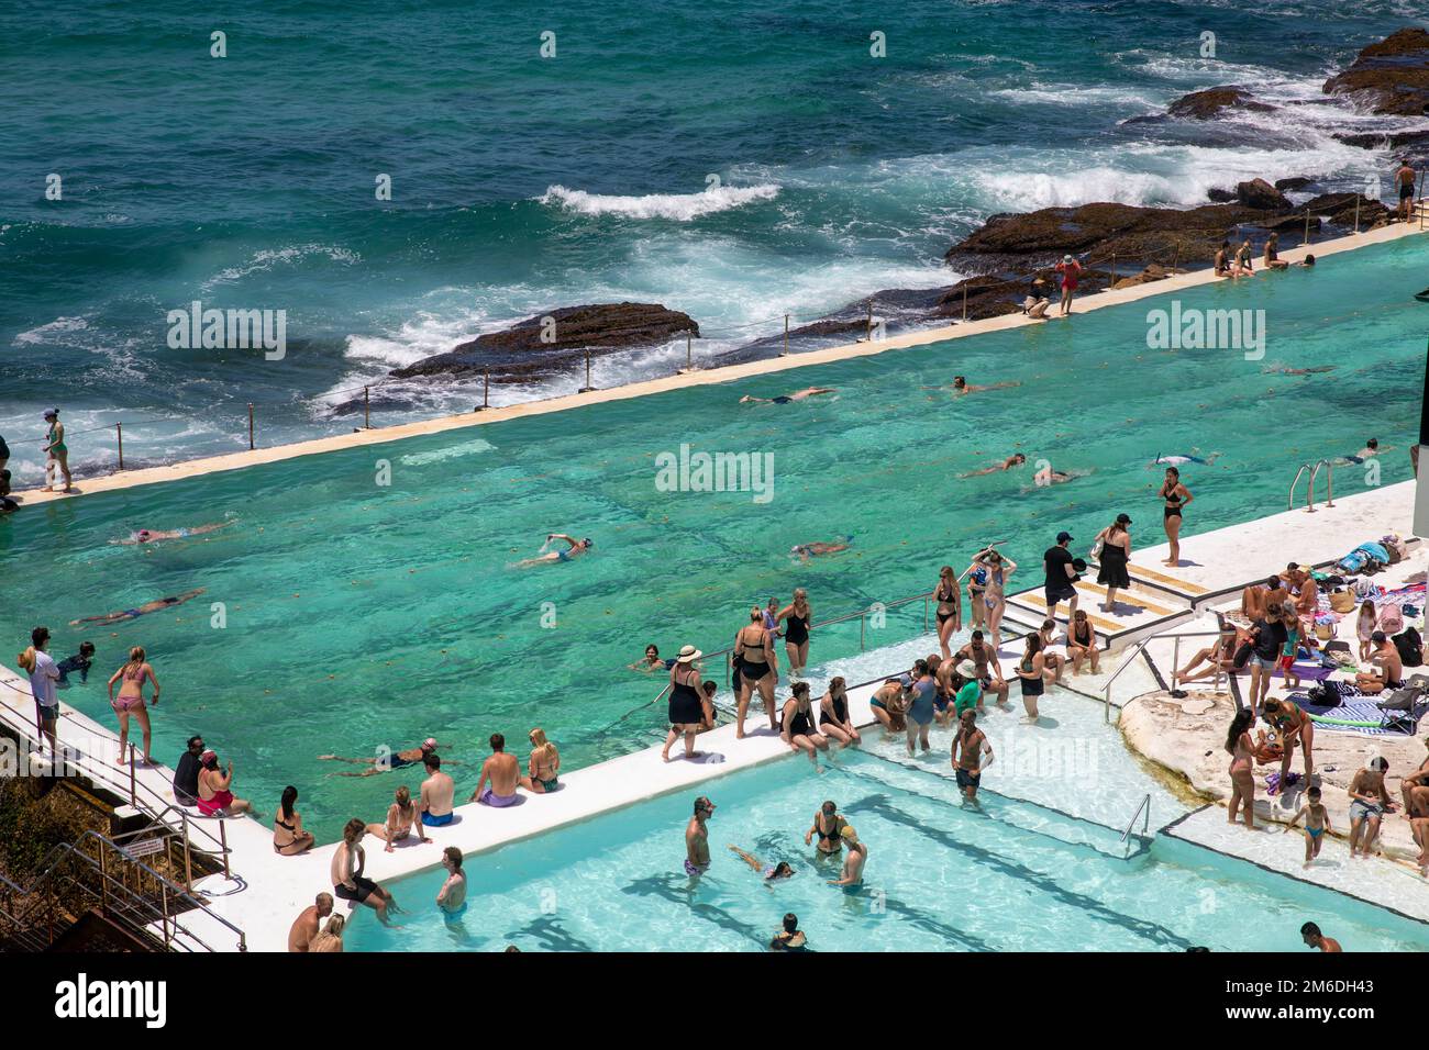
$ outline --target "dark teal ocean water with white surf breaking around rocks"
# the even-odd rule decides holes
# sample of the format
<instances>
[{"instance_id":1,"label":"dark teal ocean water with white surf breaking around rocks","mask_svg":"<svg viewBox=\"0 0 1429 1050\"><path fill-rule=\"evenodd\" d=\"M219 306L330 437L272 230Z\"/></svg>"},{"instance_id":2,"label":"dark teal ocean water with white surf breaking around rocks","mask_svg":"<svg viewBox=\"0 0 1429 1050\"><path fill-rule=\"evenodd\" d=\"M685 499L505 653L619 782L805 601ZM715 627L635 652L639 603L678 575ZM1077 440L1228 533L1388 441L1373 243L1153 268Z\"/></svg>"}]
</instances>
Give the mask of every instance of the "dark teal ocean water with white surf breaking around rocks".
<instances>
[{"instance_id":1,"label":"dark teal ocean water with white surf breaking around rocks","mask_svg":"<svg viewBox=\"0 0 1429 1050\"><path fill-rule=\"evenodd\" d=\"M250 401L263 444L296 440L350 427L332 406L387 369L556 306L686 310L713 361L785 313L952 283L943 250L990 213L1189 206L1252 176L1362 187L1388 179L1388 153L1332 133L1423 121L1356 113L1319 84L1426 10L14 0L0 9L0 433L20 483L39 479L51 404L81 471L114 461L113 431L91 429L116 420L130 466L242 447ZM1220 83L1282 109L1123 123ZM167 311L194 300L286 310L287 357L169 349ZM683 354L614 354L594 379ZM404 396L377 421L479 400L450 381Z\"/></svg>"}]
</instances>

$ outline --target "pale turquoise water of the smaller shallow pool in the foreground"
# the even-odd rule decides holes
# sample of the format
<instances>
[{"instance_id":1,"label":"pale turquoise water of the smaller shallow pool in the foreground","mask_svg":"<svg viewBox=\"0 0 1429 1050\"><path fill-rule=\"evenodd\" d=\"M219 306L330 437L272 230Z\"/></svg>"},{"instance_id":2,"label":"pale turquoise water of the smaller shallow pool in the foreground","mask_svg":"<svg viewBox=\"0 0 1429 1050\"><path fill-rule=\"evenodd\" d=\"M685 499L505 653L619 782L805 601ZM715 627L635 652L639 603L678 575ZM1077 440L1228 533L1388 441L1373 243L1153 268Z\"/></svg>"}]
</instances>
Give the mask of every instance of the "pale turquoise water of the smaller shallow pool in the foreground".
<instances>
[{"instance_id":1,"label":"pale turquoise water of the smaller shallow pool in the foreground","mask_svg":"<svg viewBox=\"0 0 1429 1050\"><path fill-rule=\"evenodd\" d=\"M856 753L823 776L780 760L707 784L712 869L692 880L683 831L697 793L469 857L457 919L433 903L444 873L396 881L399 926L363 909L346 947L756 951L786 911L816 951L1303 951L1308 920L1348 950L1429 947L1429 927L1349 897L1185 843L1123 844L1112 827L992 791L966 807L930 767ZM869 846L860 891L827 886L837 864L803 843L825 799ZM795 877L765 883L730 843Z\"/></svg>"}]
</instances>

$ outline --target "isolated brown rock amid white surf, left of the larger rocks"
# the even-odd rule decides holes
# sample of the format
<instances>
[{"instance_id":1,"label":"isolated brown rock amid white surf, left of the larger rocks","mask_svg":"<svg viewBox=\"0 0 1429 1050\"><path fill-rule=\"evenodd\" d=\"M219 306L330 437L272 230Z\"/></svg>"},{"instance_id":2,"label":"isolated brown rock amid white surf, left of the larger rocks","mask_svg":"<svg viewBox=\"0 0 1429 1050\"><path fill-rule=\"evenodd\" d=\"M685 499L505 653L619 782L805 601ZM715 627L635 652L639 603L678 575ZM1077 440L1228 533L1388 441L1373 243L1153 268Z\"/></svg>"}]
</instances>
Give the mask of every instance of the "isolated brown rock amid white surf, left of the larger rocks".
<instances>
[{"instance_id":1,"label":"isolated brown rock amid white surf, left of the larger rocks","mask_svg":"<svg viewBox=\"0 0 1429 1050\"><path fill-rule=\"evenodd\" d=\"M460 376L492 367L500 379L527 379L583 357L586 350L657 346L686 331L699 337L694 319L656 303L567 306L479 336L390 374L393 379ZM492 379L500 381L496 374Z\"/></svg>"}]
</instances>

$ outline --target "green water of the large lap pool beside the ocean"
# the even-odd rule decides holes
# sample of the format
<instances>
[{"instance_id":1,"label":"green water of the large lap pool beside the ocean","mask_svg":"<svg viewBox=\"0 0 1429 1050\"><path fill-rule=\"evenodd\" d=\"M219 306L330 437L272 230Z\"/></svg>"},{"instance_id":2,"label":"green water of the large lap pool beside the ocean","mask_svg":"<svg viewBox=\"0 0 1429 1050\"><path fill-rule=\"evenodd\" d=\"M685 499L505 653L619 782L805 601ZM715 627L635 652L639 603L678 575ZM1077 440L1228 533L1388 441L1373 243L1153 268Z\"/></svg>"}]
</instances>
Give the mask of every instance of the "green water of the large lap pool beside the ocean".
<instances>
[{"instance_id":1,"label":"green water of the large lap pool beside the ocean","mask_svg":"<svg viewBox=\"0 0 1429 1050\"><path fill-rule=\"evenodd\" d=\"M56 657L91 640L96 674L64 699L110 723L103 683L141 644L163 683L156 757L206 734L237 770L236 790L272 813L284 784L322 840L350 816L377 820L394 776L333 776L324 753L370 756L426 736L450 757L484 754L503 731L543 726L566 767L626 753L663 731L662 676L626 669L653 641L732 643L749 606L809 589L815 617L932 589L943 563L1007 540L1037 583L1060 529L1077 544L1116 511L1133 543L1160 533L1157 453L1222 453L1187 467L1195 534L1283 509L1303 460L1358 450L1375 434L1382 481L1410 476L1419 417L1419 239L1338 254L1313 271L1177 294L1182 309L1265 309L1268 347L1149 350L1147 310L890 351L737 383L593 404L542 417L302 457L23 510L0 520L0 637L19 651L34 624ZM1333 366L1306 377L1283 364ZM955 400L955 373L1016 389ZM836 396L739 404L803 386ZM656 457L769 453L773 499L663 491ZM1052 489L1032 470L959 479L1025 451L1077 477ZM382 481L390 469L390 484ZM1339 493L1365 487L1340 470ZM141 527L231 520L206 537L113 546ZM572 564L516 569L549 531L592 536ZM853 536L809 564L793 544ZM71 620L203 587L177 609L111 627ZM221 603L216 609L213 603ZM219 613L223 620L219 626ZM867 647L923 631L923 604L892 609ZM859 621L819 630L813 661L860 649ZM780 653L783 661L783 653ZM880 669L882 670L882 669ZM723 694L727 700L727 693ZM474 776L474 774L473 774ZM414 784L416 777L409 777ZM460 777L459 777L460 780Z\"/></svg>"}]
</instances>

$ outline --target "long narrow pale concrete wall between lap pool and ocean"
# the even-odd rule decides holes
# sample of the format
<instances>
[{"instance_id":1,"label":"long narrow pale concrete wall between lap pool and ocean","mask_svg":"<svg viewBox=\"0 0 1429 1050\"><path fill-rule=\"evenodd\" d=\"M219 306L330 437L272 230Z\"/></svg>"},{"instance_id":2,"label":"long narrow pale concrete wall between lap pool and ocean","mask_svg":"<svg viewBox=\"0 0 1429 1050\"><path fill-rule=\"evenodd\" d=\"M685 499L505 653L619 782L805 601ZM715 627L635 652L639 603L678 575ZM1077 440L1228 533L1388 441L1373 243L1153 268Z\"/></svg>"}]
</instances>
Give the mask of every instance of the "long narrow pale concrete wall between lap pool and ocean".
<instances>
[{"instance_id":1,"label":"long narrow pale concrete wall between lap pool and ocean","mask_svg":"<svg viewBox=\"0 0 1429 1050\"><path fill-rule=\"evenodd\" d=\"M1298 249L1286 249L1280 253L1280 257L1289 263L1300 261L1306 253L1315 254L1316 259L1323 259L1342 251L1353 251L1355 249L1368 247L1372 244L1385 244L1389 241L1399 240L1400 237L1408 237L1410 234L1418 234L1418 233L1422 233L1422 230L1416 223L1395 223L1392 226L1383 226L1376 230L1366 230L1365 233L1349 234L1332 240L1323 240ZM1263 276L1263 271L1258 270L1255 279L1259 279L1260 276ZM1165 296L1169 293L1183 291L1186 289L1200 287L1205 284L1215 284L1222 280L1226 279L1218 277L1215 276L1215 273L1206 269L1206 270L1193 270L1182 273L1175 277L1167 277L1159 281L1137 284L1129 289L1099 291L1095 294L1079 297L1075 303L1073 316L1087 313L1090 310L1102 310L1112 306L1133 303L1155 296ZM484 426L487 423L500 423L503 420L524 419L530 416L544 416L553 411L564 411L567 409L577 409L582 406L600 404L606 401L622 401L632 397L643 397L646 394L664 393L669 390L680 390L692 386L730 383L740 379L767 376L773 373L789 371L793 369L803 369L815 364L830 364L833 361L852 360L855 357L870 357L875 354L887 353L889 350L902 350L906 347L926 346L929 343L942 343L947 340L965 339L969 336L977 336L987 331L1006 331L1029 326L1035 327L1042 324L1059 324L1059 323L1062 323L1062 319L1049 319L1046 321L1037 321L1023 317L1022 314L1005 314L1002 317L966 321L959 324L950 324L946 327L919 329L916 331L907 331L900 336L895 336L892 339L879 341L852 343L846 346L826 347L822 350L810 350L807 353L790 354L789 357L773 357L767 360L749 361L745 364L730 364L716 369L696 369L694 371L690 373L663 376L660 379L644 380L640 383L630 383L620 387L612 387L609 390L593 390L592 393L587 394L567 394L540 401L526 401L520 404L493 407L484 411L466 413L462 416L444 416L434 420L400 423L392 427L379 427L373 430L356 430L353 433L333 434L330 437L320 437L309 441L296 441L292 444L280 444L269 449L256 449L252 451L243 450L236 453L227 453L223 456L210 456L203 459L184 460L180 463L171 463L160 467L124 470L103 477L83 479L81 483L76 486L74 493L64 493L59 490L50 493L44 491L43 489L27 489L14 493L14 499L21 503L21 509L33 507L90 493L117 491L146 484L156 484L160 481L176 481L180 479L211 474L216 471L240 470L243 467L252 467L263 463L279 463L282 460L297 459L300 456L316 456L327 451L340 451L346 449L360 449L367 446L386 444L406 437L437 434L447 430L477 427L477 426Z\"/></svg>"}]
</instances>

